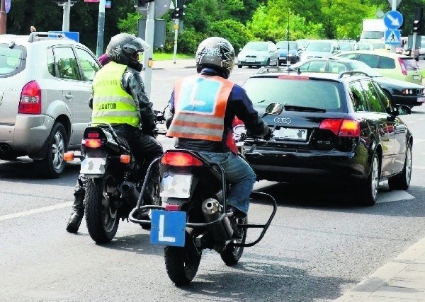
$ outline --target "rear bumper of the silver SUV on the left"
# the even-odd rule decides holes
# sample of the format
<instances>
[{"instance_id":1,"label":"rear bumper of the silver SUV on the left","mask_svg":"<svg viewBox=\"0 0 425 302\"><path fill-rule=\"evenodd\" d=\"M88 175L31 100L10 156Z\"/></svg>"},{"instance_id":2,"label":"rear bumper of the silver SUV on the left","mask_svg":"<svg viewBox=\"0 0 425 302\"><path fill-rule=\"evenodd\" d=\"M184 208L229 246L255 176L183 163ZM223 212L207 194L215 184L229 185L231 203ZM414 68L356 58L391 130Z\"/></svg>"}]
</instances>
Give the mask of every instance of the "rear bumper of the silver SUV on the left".
<instances>
[{"instance_id":1,"label":"rear bumper of the silver SUV on the left","mask_svg":"<svg viewBox=\"0 0 425 302\"><path fill-rule=\"evenodd\" d=\"M16 115L15 124L0 124L0 144L8 144L12 153L44 158L54 122L47 115Z\"/></svg>"}]
</instances>

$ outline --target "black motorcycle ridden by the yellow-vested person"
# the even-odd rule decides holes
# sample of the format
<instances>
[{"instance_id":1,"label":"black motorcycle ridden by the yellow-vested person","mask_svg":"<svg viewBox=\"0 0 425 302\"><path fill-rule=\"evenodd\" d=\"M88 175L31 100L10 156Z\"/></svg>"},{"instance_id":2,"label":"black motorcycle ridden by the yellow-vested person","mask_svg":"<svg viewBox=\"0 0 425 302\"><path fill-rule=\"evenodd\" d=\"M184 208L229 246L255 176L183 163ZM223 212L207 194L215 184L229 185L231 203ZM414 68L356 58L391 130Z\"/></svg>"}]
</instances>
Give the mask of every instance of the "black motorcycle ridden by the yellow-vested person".
<instances>
[{"instance_id":1,"label":"black motorcycle ridden by the yellow-vested person","mask_svg":"<svg viewBox=\"0 0 425 302\"><path fill-rule=\"evenodd\" d=\"M164 112L154 110L155 123L164 123ZM80 174L87 178L84 211L90 237L96 243L110 242L121 220L128 219L146 187L142 182L142 162L136 161L128 142L110 124L86 127L81 153L69 151L66 161L79 158ZM159 179L154 187L154 204L160 204ZM142 228L149 228L142 225Z\"/></svg>"}]
</instances>

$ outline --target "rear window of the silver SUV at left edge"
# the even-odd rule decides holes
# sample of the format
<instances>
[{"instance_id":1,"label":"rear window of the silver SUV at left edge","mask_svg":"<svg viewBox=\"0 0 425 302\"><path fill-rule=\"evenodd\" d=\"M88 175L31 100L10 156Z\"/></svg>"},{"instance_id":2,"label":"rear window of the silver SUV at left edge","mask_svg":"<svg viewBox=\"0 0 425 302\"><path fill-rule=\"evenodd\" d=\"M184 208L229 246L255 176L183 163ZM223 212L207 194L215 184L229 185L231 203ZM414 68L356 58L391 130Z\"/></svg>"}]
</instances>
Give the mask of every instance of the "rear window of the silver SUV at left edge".
<instances>
[{"instance_id":1,"label":"rear window of the silver SUV at left edge","mask_svg":"<svg viewBox=\"0 0 425 302\"><path fill-rule=\"evenodd\" d=\"M7 44L0 44L0 78L18 74L25 69L25 65L25 47L9 47Z\"/></svg>"}]
</instances>

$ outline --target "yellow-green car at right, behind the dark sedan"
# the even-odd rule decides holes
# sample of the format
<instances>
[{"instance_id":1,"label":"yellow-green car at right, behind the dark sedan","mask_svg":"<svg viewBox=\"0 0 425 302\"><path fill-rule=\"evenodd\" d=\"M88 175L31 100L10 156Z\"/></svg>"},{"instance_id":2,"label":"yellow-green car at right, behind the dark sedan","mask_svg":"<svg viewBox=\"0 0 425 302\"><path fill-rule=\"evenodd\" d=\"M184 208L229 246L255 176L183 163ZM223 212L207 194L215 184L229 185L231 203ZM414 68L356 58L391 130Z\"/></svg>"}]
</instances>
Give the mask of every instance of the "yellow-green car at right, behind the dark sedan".
<instances>
[{"instance_id":1,"label":"yellow-green car at right, behind the dark sedan","mask_svg":"<svg viewBox=\"0 0 425 302\"><path fill-rule=\"evenodd\" d=\"M422 74L413 57L392 52L374 52L367 50L356 50L354 52L343 52L335 54L336 57L356 59L378 71L381 76L407 81L411 83L422 83Z\"/></svg>"}]
</instances>

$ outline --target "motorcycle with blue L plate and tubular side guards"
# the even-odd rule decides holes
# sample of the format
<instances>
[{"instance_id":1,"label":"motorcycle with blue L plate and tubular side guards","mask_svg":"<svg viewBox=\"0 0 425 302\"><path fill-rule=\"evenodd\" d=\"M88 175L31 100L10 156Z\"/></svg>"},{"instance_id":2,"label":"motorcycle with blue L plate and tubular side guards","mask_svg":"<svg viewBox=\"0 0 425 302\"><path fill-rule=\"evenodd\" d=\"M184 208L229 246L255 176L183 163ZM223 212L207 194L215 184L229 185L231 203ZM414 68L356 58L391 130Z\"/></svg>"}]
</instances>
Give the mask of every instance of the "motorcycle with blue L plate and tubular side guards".
<instances>
[{"instance_id":1,"label":"motorcycle with blue L plate and tubular side guards","mask_svg":"<svg viewBox=\"0 0 425 302\"><path fill-rule=\"evenodd\" d=\"M204 249L215 250L226 265L232 266L242 257L244 248L256 245L263 238L277 209L271 195L252 192L251 197L270 199L273 210L264 224L249 224L248 216L235 219L242 233L235 238L229 221L233 214L227 212L229 184L220 165L201 153L186 149L170 149L157 161L162 204L143 206L138 202L129 219L134 223L150 224L151 243L165 245L166 272L174 284L190 284L198 272ZM137 212L146 209L152 210L151 219L137 219ZM256 240L246 243L248 228L263 230Z\"/></svg>"}]
</instances>

